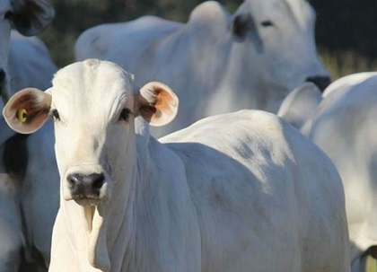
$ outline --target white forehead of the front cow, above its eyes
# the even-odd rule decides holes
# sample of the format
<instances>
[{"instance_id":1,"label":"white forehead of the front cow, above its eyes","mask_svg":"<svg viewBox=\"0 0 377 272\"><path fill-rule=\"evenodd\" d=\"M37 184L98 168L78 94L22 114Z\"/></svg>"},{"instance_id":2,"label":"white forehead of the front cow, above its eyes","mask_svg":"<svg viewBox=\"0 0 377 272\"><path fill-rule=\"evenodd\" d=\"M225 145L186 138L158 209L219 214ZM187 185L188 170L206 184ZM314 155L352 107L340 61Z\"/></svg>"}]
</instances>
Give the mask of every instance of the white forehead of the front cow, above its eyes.
<instances>
[{"instance_id":1,"label":"white forehead of the front cow, above its eyes","mask_svg":"<svg viewBox=\"0 0 377 272\"><path fill-rule=\"evenodd\" d=\"M119 102L133 106L130 75L110 62L90 59L66 66L52 84L53 103L70 110L111 110Z\"/></svg>"}]
</instances>

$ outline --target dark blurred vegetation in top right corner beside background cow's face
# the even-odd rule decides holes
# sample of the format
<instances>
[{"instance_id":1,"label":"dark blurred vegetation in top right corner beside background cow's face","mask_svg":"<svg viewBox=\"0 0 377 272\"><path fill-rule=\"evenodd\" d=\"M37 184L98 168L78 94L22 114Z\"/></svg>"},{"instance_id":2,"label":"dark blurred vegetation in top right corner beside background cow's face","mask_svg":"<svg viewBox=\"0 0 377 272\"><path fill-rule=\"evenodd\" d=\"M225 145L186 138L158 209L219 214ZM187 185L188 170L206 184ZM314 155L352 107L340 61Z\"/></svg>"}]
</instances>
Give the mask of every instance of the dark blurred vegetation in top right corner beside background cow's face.
<instances>
[{"instance_id":1,"label":"dark blurred vegetation in top right corner beside background cow's face","mask_svg":"<svg viewBox=\"0 0 377 272\"><path fill-rule=\"evenodd\" d=\"M377 71L375 0L309 0L317 13L316 40L333 78Z\"/></svg>"}]
</instances>

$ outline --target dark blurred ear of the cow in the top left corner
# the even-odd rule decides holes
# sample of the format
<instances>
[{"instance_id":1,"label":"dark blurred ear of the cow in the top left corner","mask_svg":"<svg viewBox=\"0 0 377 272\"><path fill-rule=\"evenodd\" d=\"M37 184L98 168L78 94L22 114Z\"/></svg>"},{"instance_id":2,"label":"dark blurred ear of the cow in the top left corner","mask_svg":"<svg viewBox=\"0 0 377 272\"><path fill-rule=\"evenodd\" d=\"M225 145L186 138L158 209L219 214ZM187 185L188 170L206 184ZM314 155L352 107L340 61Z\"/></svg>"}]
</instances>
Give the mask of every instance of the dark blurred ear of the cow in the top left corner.
<instances>
[{"instance_id":1,"label":"dark blurred ear of the cow in the top left corner","mask_svg":"<svg viewBox=\"0 0 377 272\"><path fill-rule=\"evenodd\" d=\"M43 31L55 17L55 10L44 0L12 1L13 11L7 13L13 27L25 36Z\"/></svg>"}]
</instances>

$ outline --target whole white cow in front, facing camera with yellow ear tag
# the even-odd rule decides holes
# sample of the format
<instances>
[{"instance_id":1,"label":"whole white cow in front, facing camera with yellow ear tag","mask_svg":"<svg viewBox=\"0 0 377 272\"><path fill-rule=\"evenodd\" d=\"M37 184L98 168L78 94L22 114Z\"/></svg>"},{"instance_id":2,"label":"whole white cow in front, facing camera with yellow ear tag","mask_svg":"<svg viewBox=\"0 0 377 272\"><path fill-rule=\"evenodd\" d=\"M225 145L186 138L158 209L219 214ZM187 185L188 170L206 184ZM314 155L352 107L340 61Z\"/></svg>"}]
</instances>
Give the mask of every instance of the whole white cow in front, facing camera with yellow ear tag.
<instances>
[{"instance_id":1,"label":"whole white cow in front, facing camera with yellow ear tag","mask_svg":"<svg viewBox=\"0 0 377 272\"><path fill-rule=\"evenodd\" d=\"M18 132L55 119L61 176L49 271L349 271L344 192L319 148L244 110L162 139L178 99L96 59L5 105ZM42 200L42 199L41 199Z\"/></svg>"}]
</instances>

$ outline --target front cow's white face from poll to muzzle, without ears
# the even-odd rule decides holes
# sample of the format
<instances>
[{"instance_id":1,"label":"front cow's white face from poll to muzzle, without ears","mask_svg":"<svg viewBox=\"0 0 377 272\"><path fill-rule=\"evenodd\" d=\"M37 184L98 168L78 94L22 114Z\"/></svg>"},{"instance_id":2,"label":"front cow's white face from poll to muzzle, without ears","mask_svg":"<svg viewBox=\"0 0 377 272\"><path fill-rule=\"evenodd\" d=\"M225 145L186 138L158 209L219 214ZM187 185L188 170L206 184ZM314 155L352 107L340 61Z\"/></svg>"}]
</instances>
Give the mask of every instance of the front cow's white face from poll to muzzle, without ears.
<instances>
[{"instance_id":1,"label":"front cow's white face from poll to muzzle, without ears","mask_svg":"<svg viewBox=\"0 0 377 272\"><path fill-rule=\"evenodd\" d=\"M127 157L128 170L135 158L135 98L127 74L87 61L59 71L48 93L63 197L80 204L110 197L117 162Z\"/></svg>"}]
</instances>

